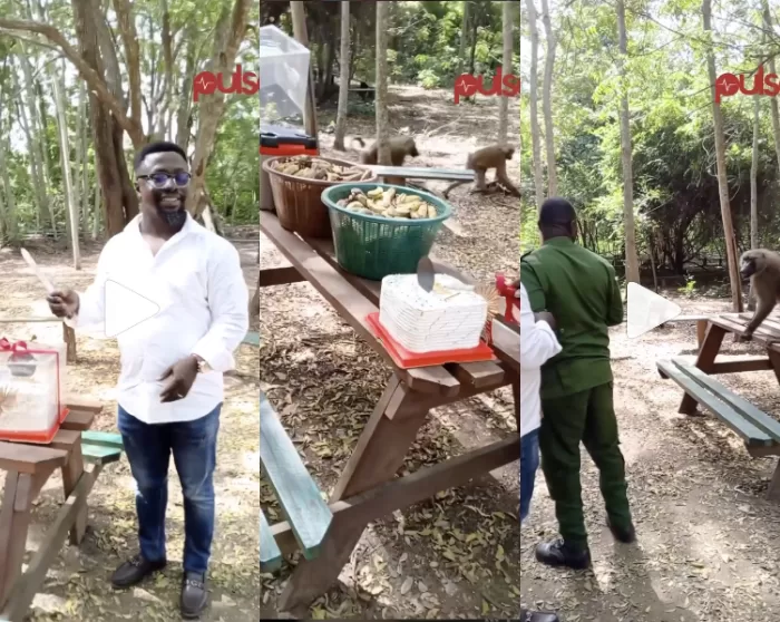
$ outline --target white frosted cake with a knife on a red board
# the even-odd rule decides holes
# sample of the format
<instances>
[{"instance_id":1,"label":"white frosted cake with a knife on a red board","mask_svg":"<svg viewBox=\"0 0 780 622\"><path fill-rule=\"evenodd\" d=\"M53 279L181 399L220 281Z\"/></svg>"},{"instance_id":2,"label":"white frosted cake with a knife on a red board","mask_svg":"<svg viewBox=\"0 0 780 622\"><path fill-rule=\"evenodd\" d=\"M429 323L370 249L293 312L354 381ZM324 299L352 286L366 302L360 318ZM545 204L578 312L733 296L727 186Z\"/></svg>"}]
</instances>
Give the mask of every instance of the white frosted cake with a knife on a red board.
<instances>
[{"instance_id":1,"label":"white frosted cake with a knife on a red board","mask_svg":"<svg viewBox=\"0 0 780 622\"><path fill-rule=\"evenodd\" d=\"M417 274L382 279L379 321L411 352L476 348L487 320L488 304L471 285L437 274L426 292Z\"/></svg>"}]
</instances>

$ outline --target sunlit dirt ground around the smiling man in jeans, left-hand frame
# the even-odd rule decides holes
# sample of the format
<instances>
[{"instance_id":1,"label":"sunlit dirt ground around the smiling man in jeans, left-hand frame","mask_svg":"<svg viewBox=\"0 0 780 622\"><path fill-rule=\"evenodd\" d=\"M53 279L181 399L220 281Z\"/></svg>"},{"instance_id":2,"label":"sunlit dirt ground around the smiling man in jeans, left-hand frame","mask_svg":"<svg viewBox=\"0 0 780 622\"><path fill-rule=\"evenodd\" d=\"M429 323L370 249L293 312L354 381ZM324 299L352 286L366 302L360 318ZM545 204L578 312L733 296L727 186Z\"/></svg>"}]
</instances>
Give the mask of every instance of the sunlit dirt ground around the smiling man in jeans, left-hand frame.
<instances>
[{"instance_id":1,"label":"sunlit dirt ground around the smiling man in jeans, left-hand frame","mask_svg":"<svg viewBox=\"0 0 780 622\"><path fill-rule=\"evenodd\" d=\"M247 280L256 282L257 229L238 231L237 242L247 263ZM254 237L254 241L253 241ZM94 276L99 249L84 250L84 269L72 270L71 259L45 243L28 244L39 265L58 285L84 289ZM0 250L0 282L6 304L3 318L49 315L45 292L18 252ZM254 276L251 274L254 273ZM59 323L3 323L0 332L11 339L61 342ZM95 429L116 430L114 385L119 372L116 340L79 337L78 362L67 369L69 392L100 399L105 409ZM236 354L237 369L257 377L257 350L242 346ZM203 621L244 622L256 619L259 608L257 566L257 483L259 386L256 382L226 379L226 399L222 411L216 472L217 533L209 574L211 610ZM0 486L4 474L0 473ZM38 499L30 528L28 550L33 551L61 503L62 482L57 474ZM181 620L181 585L184 516L182 492L175 470L170 472L167 514L168 566L156 579L124 592L115 592L108 580L115 567L136 552L136 518L133 478L126 459L108 465L89 496L89 526L80 547L65 546L49 571L41 593L36 596L28 620L68 622L113 622L120 620Z\"/></svg>"}]
</instances>

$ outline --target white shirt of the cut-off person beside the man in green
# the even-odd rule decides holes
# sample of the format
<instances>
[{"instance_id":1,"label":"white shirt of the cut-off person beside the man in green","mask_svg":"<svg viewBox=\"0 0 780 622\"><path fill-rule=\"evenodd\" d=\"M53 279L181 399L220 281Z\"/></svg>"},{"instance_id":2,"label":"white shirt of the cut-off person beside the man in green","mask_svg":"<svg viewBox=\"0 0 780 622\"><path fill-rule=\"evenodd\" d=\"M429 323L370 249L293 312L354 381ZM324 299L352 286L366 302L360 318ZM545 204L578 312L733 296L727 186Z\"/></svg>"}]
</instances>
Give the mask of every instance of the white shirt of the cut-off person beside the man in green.
<instances>
[{"instance_id":1,"label":"white shirt of the cut-off person beside the man in green","mask_svg":"<svg viewBox=\"0 0 780 622\"><path fill-rule=\"evenodd\" d=\"M520 283L520 437L542 424L542 366L560 350L549 324L534 319L528 293Z\"/></svg>"}]
</instances>

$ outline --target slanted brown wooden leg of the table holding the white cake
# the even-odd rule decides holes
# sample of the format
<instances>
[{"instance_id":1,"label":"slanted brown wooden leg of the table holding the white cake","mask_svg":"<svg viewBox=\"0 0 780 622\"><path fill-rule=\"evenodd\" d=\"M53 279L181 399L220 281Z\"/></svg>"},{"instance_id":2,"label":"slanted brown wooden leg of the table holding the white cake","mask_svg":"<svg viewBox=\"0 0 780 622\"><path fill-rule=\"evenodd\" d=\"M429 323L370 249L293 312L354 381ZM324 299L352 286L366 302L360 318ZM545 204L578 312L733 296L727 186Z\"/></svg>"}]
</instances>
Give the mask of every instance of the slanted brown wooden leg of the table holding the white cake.
<instances>
[{"instance_id":1,"label":"slanted brown wooden leg of the table holding the white cake","mask_svg":"<svg viewBox=\"0 0 780 622\"><path fill-rule=\"evenodd\" d=\"M330 503L349 498L392 479L403 465L403 459L428 416L430 396L409 391L402 399L393 400L397 391L403 391L403 386L393 376L377 404ZM333 516L318 558L302 560L293 572L282 594L283 611L309 605L335 583L371 519L358 514L347 518L347 513Z\"/></svg>"}]
</instances>

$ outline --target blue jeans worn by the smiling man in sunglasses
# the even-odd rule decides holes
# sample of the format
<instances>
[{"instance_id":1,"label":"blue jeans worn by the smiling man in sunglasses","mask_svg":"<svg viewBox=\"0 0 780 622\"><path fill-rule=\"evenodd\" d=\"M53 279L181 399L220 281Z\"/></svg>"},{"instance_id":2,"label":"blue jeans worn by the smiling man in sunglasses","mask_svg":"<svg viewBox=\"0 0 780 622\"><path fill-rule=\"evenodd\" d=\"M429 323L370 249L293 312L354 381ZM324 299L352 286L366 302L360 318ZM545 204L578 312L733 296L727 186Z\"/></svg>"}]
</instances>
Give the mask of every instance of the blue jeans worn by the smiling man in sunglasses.
<instances>
[{"instance_id":1,"label":"blue jeans worn by the smiling man in sunglasses","mask_svg":"<svg viewBox=\"0 0 780 622\"><path fill-rule=\"evenodd\" d=\"M214 467L222 404L193 421L149 425L119 407L119 431L136 480L140 554L166 558L170 455L184 493L184 571L205 573L214 537Z\"/></svg>"}]
</instances>

